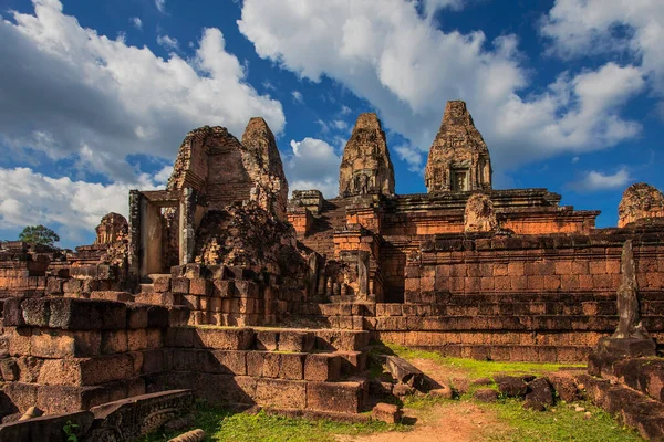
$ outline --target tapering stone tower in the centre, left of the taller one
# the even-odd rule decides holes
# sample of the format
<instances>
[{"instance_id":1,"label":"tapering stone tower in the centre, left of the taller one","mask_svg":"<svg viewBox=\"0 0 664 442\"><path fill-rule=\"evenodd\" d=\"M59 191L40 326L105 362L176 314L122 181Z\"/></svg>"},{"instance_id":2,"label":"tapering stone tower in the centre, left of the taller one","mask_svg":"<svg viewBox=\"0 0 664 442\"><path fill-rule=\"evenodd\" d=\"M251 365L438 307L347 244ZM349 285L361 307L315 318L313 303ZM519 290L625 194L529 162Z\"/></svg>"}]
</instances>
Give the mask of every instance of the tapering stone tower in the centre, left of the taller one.
<instances>
[{"instance_id":1,"label":"tapering stone tower in the centre, left of the taller one","mask_svg":"<svg viewBox=\"0 0 664 442\"><path fill-rule=\"evenodd\" d=\"M394 194L394 167L376 114L360 114L339 171L339 194Z\"/></svg>"}]
</instances>

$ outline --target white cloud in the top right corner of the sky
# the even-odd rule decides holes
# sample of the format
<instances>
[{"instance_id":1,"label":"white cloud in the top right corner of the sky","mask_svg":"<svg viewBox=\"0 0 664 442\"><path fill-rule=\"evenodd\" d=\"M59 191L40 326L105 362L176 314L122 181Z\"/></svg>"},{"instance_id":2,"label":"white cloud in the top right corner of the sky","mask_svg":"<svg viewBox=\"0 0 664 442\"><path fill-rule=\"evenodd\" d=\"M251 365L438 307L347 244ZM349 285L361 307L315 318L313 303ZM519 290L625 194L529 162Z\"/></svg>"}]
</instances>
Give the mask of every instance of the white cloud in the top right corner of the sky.
<instances>
[{"instance_id":1,"label":"white cloud in the top right corner of the sky","mask_svg":"<svg viewBox=\"0 0 664 442\"><path fill-rule=\"evenodd\" d=\"M664 95L664 2L661 0L557 0L540 32L566 59L620 54L639 63Z\"/></svg>"}]
</instances>

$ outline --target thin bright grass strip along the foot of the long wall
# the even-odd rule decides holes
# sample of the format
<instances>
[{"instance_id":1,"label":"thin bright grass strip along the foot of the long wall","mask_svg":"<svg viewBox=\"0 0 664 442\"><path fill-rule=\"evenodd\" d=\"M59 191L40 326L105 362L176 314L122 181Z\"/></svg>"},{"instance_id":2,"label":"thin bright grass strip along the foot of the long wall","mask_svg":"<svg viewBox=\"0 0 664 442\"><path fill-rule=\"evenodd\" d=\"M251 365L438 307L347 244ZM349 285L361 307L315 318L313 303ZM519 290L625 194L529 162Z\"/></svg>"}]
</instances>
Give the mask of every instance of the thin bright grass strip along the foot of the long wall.
<instances>
[{"instance_id":1,"label":"thin bright grass strip along the foot of the long wall","mask_svg":"<svg viewBox=\"0 0 664 442\"><path fill-rule=\"evenodd\" d=\"M464 371L471 379L492 378L498 373L543 375L551 371L558 371L561 367L585 367L584 364L499 362L492 360L450 358L435 351L414 350L395 344L386 344L382 350L394 354L406 360L429 359L440 367Z\"/></svg>"}]
</instances>

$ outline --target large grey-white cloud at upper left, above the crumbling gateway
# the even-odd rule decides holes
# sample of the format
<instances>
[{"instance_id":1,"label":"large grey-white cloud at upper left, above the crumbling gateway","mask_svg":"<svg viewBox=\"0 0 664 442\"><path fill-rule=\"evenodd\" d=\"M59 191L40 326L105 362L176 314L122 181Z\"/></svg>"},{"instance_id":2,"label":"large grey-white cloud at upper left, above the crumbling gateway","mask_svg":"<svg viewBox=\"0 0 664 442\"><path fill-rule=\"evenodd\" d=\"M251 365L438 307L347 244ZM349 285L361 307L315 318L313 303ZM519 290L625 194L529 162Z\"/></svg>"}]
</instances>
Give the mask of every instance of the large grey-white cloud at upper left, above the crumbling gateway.
<instances>
[{"instance_id":1,"label":"large grey-white cloud at upper left, above the crumbling gateway","mask_svg":"<svg viewBox=\"0 0 664 442\"><path fill-rule=\"evenodd\" d=\"M218 29L203 31L189 60L162 59L82 28L56 0L35 0L34 11L14 12L15 23L0 19L4 148L80 158L90 171L129 182L136 177L127 155L170 161L195 127L221 125L239 135L262 115L274 133L283 129L281 104L246 83Z\"/></svg>"}]
</instances>

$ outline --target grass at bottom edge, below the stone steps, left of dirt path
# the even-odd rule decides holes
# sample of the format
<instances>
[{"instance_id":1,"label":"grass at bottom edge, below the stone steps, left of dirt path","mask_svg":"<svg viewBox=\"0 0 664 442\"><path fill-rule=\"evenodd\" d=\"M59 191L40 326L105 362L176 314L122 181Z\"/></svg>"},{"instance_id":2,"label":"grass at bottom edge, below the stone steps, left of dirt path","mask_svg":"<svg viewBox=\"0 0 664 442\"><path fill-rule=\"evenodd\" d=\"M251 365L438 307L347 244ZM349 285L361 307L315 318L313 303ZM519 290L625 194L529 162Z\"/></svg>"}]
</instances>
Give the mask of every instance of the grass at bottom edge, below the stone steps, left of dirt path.
<instances>
[{"instance_id":1,"label":"grass at bottom edge, below the stone steps, left of dirt path","mask_svg":"<svg viewBox=\"0 0 664 442\"><path fill-rule=\"evenodd\" d=\"M206 433L206 441L234 442L333 442L335 434L362 435L385 431L408 431L403 424L384 422L343 423L329 420L308 420L303 418L284 418L266 412L257 414L235 413L229 410L198 406L196 423ZM163 442L178 434L163 432L151 434L141 442Z\"/></svg>"}]
</instances>

